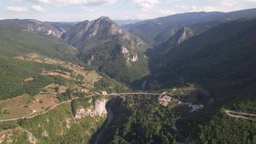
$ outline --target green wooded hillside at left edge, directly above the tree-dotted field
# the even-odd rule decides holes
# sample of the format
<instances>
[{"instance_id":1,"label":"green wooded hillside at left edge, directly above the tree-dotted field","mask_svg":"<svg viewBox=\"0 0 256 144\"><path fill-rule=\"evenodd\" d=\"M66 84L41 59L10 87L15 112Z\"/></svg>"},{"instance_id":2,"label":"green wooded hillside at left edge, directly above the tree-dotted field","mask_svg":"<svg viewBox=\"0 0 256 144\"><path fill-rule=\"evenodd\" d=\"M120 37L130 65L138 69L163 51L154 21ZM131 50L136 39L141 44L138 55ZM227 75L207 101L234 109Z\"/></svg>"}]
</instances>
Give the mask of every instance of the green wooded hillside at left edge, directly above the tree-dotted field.
<instances>
[{"instance_id":1,"label":"green wooded hillside at left edge, directly above the tree-dotted field","mask_svg":"<svg viewBox=\"0 0 256 144\"><path fill-rule=\"evenodd\" d=\"M22 61L1 55L0 67L0 99L21 96L24 93L34 96L46 85L54 83L53 77L40 74L43 70L62 69L57 65ZM68 69L66 71L70 72ZM24 81L29 77L34 79Z\"/></svg>"}]
</instances>

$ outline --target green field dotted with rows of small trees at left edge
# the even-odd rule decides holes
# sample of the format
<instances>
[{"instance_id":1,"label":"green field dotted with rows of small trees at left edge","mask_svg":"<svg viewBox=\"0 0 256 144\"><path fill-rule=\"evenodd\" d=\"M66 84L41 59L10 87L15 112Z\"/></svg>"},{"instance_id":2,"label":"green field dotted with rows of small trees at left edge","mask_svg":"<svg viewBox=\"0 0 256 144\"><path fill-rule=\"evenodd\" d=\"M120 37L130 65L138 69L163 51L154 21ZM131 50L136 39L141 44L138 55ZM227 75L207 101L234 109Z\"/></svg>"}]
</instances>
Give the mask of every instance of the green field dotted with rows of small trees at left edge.
<instances>
[{"instance_id":1,"label":"green field dotted with rows of small trees at left edge","mask_svg":"<svg viewBox=\"0 0 256 144\"><path fill-rule=\"evenodd\" d=\"M35 101L35 99L32 96L25 94L23 96L18 96L13 99L6 99L6 100L0 101L0 107L1 108L20 107L20 106L25 106L27 104L30 104L32 101Z\"/></svg>"}]
</instances>

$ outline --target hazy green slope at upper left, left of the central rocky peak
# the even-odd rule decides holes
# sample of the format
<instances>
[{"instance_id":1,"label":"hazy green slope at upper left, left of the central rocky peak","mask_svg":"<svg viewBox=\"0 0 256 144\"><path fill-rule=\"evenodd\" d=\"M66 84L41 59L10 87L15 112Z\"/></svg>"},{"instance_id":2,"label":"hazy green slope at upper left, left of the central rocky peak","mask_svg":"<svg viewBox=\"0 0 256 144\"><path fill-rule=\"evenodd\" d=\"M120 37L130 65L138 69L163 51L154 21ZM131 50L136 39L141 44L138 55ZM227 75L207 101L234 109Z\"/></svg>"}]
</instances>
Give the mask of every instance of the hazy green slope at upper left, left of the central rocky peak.
<instances>
[{"instance_id":1,"label":"hazy green slope at upper left, left of the central rocky peak","mask_svg":"<svg viewBox=\"0 0 256 144\"><path fill-rule=\"evenodd\" d=\"M56 59L77 61L78 51L71 45L27 32L17 24L0 24L0 51L5 56L39 53Z\"/></svg>"}]
</instances>

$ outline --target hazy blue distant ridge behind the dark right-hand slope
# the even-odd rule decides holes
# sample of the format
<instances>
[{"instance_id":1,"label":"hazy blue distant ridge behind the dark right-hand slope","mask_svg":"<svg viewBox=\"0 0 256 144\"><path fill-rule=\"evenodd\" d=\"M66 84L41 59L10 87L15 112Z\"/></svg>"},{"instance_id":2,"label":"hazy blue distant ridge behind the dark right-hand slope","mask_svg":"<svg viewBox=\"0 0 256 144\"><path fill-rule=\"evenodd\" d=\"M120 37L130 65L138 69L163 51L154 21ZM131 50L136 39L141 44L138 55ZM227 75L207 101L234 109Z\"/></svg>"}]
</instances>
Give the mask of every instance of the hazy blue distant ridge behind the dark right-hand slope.
<instances>
[{"instance_id":1,"label":"hazy blue distant ridge behind the dark right-hand slope","mask_svg":"<svg viewBox=\"0 0 256 144\"><path fill-rule=\"evenodd\" d=\"M173 35L172 32L166 33L166 31L168 31L170 27L174 27L173 30L177 30L177 28L180 29L182 27L195 26L195 24L199 22L256 17L255 13L256 9L234 11L229 13L180 13L156 19L139 21L135 24L123 25L122 27L128 30L128 32L131 32L132 34L140 37L145 42L154 45L155 43L163 42L168 37L171 37ZM161 33L163 33L164 35L161 36ZM162 40L160 39L160 37L162 38Z\"/></svg>"}]
</instances>

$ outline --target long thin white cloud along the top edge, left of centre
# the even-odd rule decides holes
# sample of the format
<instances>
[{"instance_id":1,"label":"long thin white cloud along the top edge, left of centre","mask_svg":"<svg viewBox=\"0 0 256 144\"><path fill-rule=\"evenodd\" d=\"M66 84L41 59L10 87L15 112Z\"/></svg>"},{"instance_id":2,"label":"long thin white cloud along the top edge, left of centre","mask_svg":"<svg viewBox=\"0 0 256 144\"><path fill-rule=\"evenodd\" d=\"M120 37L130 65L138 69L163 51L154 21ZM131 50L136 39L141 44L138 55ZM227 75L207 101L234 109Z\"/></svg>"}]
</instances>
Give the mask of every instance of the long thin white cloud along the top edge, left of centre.
<instances>
[{"instance_id":1,"label":"long thin white cloud along the top edge, left of centre","mask_svg":"<svg viewBox=\"0 0 256 144\"><path fill-rule=\"evenodd\" d=\"M117 0L27 0L33 3L47 3L54 6L113 4Z\"/></svg>"}]
</instances>

